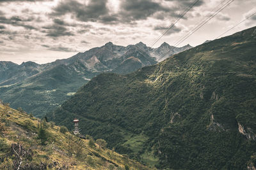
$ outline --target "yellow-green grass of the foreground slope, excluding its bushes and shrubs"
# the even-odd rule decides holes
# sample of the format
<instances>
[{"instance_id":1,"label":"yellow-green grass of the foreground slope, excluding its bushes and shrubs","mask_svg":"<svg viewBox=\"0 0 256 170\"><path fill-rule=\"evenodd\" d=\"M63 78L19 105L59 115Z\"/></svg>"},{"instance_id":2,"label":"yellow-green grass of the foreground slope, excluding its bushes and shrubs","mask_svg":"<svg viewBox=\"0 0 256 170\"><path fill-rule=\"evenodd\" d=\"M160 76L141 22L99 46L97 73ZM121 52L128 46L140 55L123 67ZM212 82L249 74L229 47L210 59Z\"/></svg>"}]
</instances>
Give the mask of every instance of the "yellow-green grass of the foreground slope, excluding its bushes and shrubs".
<instances>
[{"instance_id":1,"label":"yellow-green grass of the foreground slope, excluding its bushes and shrubs","mask_svg":"<svg viewBox=\"0 0 256 170\"><path fill-rule=\"evenodd\" d=\"M1 124L4 124L3 134L0 134L0 140L7 144L7 150L0 148L0 158L6 157L6 152L10 148L12 143L22 143L24 148L31 148L33 150L33 160L28 164L40 164L44 162L50 164L52 162L59 162L60 166L66 165L70 169L124 169L127 165L131 169L147 169L147 167L141 166L139 163L127 159L126 157L119 155L108 149L99 149L99 146L90 147L88 140L83 139L83 157L77 160L74 156L69 158L67 156L67 142L68 135L62 134L60 127L48 127L47 132L49 139L47 145L40 145L38 134L38 119L29 117L28 114L13 110L12 108L3 106L0 104ZM30 120L32 122L29 127L26 127L25 122ZM76 140L75 136L72 136L72 140ZM2 146L2 145L1 145ZM12 157L8 156L10 160L8 162L12 164ZM88 157L92 157L93 161L88 160ZM0 162L0 167L6 164L6 162ZM25 164L25 162L24 162ZM76 164L76 166L71 166ZM117 166L114 166L114 164Z\"/></svg>"}]
</instances>

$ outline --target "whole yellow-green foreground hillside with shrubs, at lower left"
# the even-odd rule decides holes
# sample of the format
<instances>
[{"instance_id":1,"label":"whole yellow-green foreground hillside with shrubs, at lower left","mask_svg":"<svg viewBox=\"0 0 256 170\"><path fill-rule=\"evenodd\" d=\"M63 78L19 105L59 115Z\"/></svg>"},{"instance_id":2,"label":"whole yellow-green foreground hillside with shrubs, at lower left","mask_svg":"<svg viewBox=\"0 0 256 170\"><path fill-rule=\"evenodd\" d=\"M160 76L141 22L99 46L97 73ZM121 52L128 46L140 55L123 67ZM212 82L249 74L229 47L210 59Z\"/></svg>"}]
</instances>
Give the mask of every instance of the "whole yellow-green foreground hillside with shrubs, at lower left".
<instances>
[{"instance_id":1,"label":"whole yellow-green foreground hillside with shrubs, at lower left","mask_svg":"<svg viewBox=\"0 0 256 170\"><path fill-rule=\"evenodd\" d=\"M0 169L148 169L97 143L0 103Z\"/></svg>"}]
</instances>

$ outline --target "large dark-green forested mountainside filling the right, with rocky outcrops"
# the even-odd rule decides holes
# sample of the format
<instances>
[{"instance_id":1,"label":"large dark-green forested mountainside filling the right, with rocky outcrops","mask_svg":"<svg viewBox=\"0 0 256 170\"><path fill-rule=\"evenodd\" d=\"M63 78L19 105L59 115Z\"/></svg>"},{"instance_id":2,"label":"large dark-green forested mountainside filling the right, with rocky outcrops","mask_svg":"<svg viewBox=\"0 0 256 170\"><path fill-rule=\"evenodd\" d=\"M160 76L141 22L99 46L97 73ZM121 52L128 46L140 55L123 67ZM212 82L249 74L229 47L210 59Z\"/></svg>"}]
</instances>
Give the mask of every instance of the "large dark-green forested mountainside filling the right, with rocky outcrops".
<instances>
[{"instance_id":1,"label":"large dark-green forested mountainside filling the right, with rocky outcrops","mask_svg":"<svg viewBox=\"0 0 256 170\"><path fill-rule=\"evenodd\" d=\"M159 169L255 169L255 45L253 27L130 74L100 74L47 118L69 129L79 118L83 133Z\"/></svg>"}]
</instances>

